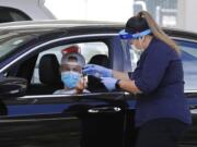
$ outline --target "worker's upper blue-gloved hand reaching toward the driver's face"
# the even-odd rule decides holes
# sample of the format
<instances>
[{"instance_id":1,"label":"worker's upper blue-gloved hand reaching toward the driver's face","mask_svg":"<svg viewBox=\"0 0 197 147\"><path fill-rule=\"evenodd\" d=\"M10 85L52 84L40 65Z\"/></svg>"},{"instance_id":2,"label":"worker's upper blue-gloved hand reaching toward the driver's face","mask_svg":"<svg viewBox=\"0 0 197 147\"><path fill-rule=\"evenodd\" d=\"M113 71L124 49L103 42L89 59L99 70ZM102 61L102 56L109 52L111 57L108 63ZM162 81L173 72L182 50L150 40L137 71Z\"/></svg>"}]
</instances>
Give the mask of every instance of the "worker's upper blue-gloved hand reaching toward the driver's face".
<instances>
[{"instance_id":1,"label":"worker's upper blue-gloved hand reaching toward the driver's face","mask_svg":"<svg viewBox=\"0 0 197 147\"><path fill-rule=\"evenodd\" d=\"M96 77L112 77L112 70L96 64L86 64L83 68L83 74Z\"/></svg>"}]
</instances>

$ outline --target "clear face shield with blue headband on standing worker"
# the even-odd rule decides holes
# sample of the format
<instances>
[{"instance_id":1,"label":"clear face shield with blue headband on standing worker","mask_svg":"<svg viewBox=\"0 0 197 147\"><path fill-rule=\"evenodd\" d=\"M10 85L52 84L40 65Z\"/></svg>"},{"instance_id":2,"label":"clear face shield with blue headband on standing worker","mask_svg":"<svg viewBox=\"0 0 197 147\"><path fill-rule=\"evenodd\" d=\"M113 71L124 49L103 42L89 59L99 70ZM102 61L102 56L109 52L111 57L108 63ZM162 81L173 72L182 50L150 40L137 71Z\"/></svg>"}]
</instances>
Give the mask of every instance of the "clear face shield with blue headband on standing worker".
<instances>
[{"instance_id":1,"label":"clear face shield with blue headband on standing worker","mask_svg":"<svg viewBox=\"0 0 197 147\"><path fill-rule=\"evenodd\" d=\"M142 38L143 36L149 35L150 33L150 29L146 29L143 32L136 34L127 33L125 29L119 32L119 37L125 56L124 58L130 61L131 72L135 71L137 62L141 56L141 51L139 49L136 49L135 46L131 45L131 40Z\"/></svg>"}]
</instances>

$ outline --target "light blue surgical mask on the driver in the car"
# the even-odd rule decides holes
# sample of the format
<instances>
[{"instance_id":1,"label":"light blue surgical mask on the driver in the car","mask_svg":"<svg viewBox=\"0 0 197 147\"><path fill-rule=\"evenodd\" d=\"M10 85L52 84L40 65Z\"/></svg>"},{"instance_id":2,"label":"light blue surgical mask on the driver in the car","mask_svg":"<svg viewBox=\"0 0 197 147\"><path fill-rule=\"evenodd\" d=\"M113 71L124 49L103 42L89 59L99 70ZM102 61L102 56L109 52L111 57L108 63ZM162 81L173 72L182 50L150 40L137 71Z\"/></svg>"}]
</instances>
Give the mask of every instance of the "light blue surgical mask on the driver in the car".
<instances>
[{"instance_id":1,"label":"light blue surgical mask on the driver in the car","mask_svg":"<svg viewBox=\"0 0 197 147\"><path fill-rule=\"evenodd\" d=\"M61 73L61 81L63 82L63 85L68 88L74 88L79 81L81 78L81 74L77 72L62 72Z\"/></svg>"}]
</instances>

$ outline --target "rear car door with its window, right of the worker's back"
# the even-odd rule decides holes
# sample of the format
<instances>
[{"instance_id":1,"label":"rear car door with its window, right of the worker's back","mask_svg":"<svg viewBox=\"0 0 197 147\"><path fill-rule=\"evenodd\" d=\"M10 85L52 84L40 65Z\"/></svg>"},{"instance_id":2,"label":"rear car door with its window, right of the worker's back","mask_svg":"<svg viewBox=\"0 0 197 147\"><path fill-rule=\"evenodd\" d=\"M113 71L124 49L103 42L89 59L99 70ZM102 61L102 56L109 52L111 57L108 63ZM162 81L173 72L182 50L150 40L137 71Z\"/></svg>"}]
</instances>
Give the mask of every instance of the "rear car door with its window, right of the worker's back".
<instances>
[{"instance_id":1,"label":"rear car door with its window, right of the worker's back","mask_svg":"<svg viewBox=\"0 0 197 147\"><path fill-rule=\"evenodd\" d=\"M177 39L184 68L185 95L189 103L193 125L186 136L179 140L181 146L197 146L197 42Z\"/></svg>"}]
</instances>

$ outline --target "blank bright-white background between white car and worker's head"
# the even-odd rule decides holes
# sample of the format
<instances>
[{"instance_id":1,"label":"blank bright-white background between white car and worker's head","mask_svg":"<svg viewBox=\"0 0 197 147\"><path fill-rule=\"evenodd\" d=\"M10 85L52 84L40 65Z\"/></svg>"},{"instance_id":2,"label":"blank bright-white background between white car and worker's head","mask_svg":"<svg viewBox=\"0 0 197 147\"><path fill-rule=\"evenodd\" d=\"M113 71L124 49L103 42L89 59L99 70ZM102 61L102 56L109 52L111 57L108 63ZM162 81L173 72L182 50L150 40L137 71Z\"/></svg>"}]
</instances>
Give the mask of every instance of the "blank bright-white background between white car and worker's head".
<instances>
[{"instance_id":1,"label":"blank bright-white background between white car and worker's head","mask_svg":"<svg viewBox=\"0 0 197 147\"><path fill-rule=\"evenodd\" d=\"M134 0L46 0L46 7L59 20L126 22Z\"/></svg>"}]
</instances>

